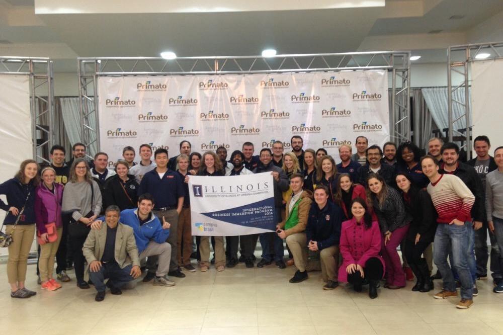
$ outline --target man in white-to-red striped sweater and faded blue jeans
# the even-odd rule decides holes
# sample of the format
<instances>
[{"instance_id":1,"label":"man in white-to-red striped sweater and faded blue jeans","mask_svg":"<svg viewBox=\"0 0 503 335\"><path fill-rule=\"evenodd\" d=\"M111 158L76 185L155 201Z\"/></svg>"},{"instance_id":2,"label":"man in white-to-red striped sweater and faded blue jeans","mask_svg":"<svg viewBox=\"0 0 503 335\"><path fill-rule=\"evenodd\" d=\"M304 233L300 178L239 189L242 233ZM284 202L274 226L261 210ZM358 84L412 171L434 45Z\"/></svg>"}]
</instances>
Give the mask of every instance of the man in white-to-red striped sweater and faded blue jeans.
<instances>
[{"instance_id":1,"label":"man in white-to-red striped sweater and faded blue jeans","mask_svg":"<svg viewBox=\"0 0 503 335\"><path fill-rule=\"evenodd\" d=\"M456 284L447 257L452 248L451 259L461 281L461 300L457 308L466 309L473 304L473 281L468 267L467 247L470 244L471 208L475 197L461 179L454 175L439 174L438 161L432 156L421 159L423 173L430 179L428 193L438 213L437 232L433 259L444 281L443 290L436 299L457 297Z\"/></svg>"}]
</instances>

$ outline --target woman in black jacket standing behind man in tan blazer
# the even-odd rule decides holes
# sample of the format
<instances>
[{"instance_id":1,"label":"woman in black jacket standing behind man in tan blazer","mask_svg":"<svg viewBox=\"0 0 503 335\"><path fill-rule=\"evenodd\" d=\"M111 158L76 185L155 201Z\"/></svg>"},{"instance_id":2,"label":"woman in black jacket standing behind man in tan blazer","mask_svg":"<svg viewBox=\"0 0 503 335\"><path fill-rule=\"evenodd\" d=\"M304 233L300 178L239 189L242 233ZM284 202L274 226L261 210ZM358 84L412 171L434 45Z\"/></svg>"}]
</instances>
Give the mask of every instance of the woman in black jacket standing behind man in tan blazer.
<instances>
[{"instance_id":1,"label":"woman in black jacket standing behind man in tan blazer","mask_svg":"<svg viewBox=\"0 0 503 335\"><path fill-rule=\"evenodd\" d=\"M129 165L125 160L115 163L117 175L105 182L103 192L103 208L110 205L119 206L120 210L138 207L138 183L133 175L128 175Z\"/></svg>"}]
</instances>

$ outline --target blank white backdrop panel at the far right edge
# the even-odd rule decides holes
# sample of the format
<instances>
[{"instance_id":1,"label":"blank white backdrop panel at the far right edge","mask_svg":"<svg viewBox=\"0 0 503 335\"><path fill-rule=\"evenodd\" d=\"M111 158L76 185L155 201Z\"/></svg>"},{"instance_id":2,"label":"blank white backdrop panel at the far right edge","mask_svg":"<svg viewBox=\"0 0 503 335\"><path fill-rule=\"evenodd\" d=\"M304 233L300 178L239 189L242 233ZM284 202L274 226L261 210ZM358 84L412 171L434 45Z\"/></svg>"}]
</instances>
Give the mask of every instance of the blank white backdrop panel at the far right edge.
<instances>
[{"instance_id":1,"label":"blank white backdrop panel at the far right edge","mask_svg":"<svg viewBox=\"0 0 503 335\"><path fill-rule=\"evenodd\" d=\"M501 120L501 91L503 87L503 59L476 61L471 64L471 101L473 138L486 135L492 143L489 154L503 145L503 133L494 124ZM476 156L473 151L473 157Z\"/></svg>"}]
</instances>

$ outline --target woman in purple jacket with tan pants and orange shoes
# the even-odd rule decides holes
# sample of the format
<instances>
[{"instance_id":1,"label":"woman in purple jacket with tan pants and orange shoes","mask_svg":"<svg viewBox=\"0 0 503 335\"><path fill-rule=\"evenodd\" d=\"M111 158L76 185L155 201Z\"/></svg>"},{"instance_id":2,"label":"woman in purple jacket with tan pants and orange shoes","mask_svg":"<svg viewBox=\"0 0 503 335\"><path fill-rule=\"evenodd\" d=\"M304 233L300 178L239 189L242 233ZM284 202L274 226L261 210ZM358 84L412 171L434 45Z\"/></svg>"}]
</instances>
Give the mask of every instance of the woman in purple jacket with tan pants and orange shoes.
<instances>
[{"instance_id":1,"label":"woman in purple jacket with tan pants and orange shoes","mask_svg":"<svg viewBox=\"0 0 503 335\"><path fill-rule=\"evenodd\" d=\"M47 291L54 291L61 288L61 284L52 278L54 272L54 257L58 250L59 242L63 231L61 220L61 199L63 198L63 187L54 183L56 172L50 166L42 169L40 174L42 183L37 187L35 197L35 219L37 232L45 244L40 245L40 258L38 267L40 269L41 288ZM54 222L56 225L57 239L49 242L46 224Z\"/></svg>"}]
</instances>

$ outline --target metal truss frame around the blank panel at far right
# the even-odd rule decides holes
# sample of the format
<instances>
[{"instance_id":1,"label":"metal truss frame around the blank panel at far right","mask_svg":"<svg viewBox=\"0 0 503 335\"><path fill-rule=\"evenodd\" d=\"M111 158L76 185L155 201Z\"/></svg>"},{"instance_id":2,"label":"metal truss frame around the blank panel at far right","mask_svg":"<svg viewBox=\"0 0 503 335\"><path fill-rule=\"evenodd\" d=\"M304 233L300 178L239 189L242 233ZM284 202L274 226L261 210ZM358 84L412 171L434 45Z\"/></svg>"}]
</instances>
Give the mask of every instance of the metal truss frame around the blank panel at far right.
<instances>
[{"instance_id":1,"label":"metal truss frame around the blank panel at far right","mask_svg":"<svg viewBox=\"0 0 503 335\"><path fill-rule=\"evenodd\" d=\"M476 59L479 53L490 52L491 56L484 59ZM461 148L466 149L467 159L472 156L472 143L470 141L472 126L470 120L470 64L476 61L485 61L491 59L503 58L503 42L487 42L465 45L454 45L447 49L447 88L448 88L448 113L449 113L449 141L452 142L454 136L464 139L465 144ZM453 84L453 75L463 76L463 80ZM458 101L454 94L458 90L463 90L465 102ZM454 106L460 106L464 109L462 115L454 118ZM454 124L461 118L466 119L465 132L454 129Z\"/></svg>"}]
</instances>

